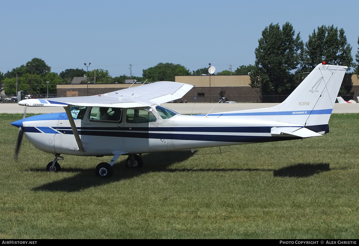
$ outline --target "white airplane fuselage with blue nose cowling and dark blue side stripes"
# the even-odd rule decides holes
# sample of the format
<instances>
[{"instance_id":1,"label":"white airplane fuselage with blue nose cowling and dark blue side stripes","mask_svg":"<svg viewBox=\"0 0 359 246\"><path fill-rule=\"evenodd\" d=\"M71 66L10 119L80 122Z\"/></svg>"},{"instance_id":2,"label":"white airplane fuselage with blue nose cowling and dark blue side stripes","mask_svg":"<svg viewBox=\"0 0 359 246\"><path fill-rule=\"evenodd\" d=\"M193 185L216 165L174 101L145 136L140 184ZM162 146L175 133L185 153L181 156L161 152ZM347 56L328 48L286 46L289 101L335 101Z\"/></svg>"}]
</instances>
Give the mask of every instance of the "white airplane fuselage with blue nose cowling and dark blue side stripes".
<instances>
[{"instance_id":1,"label":"white airplane fuselage with blue nose cowling and dark blue side stripes","mask_svg":"<svg viewBox=\"0 0 359 246\"><path fill-rule=\"evenodd\" d=\"M111 156L113 151L129 154L172 151L257 142L299 139L290 135L272 135L274 127L303 127L297 124L241 117L176 114L163 119L155 107L151 122L131 122L122 112L122 120L94 120L91 108L82 119L74 119L85 151L79 151L66 113L35 115L23 121L25 136L39 150L48 153ZM244 117L243 117L244 118Z\"/></svg>"}]
</instances>

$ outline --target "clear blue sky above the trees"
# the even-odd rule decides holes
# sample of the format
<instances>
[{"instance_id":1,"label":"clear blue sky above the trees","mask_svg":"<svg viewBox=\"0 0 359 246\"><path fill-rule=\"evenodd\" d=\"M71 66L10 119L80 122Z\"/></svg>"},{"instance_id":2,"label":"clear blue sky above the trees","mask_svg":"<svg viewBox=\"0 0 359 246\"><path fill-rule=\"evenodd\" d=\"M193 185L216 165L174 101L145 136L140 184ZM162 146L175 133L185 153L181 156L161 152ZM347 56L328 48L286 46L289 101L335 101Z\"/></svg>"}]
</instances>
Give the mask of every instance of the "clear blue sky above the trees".
<instances>
[{"instance_id":1,"label":"clear blue sky above the trees","mask_svg":"<svg viewBox=\"0 0 359 246\"><path fill-rule=\"evenodd\" d=\"M102 68L142 76L159 62L216 72L254 64L262 30L289 22L308 41L321 25L343 28L358 51L359 1L0 0L0 71L37 57L60 73Z\"/></svg>"}]
</instances>

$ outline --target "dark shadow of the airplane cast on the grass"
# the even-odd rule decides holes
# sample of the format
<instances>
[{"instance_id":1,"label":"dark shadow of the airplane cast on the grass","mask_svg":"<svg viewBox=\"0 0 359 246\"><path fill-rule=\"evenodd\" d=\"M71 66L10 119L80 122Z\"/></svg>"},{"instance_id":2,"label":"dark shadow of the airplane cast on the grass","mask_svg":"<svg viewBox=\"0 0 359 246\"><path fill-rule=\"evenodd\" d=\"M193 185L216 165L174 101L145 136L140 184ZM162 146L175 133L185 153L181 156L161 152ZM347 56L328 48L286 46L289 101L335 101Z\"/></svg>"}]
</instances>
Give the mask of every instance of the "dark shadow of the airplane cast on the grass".
<instances>
[{"instance_id":1,"label":"dark shadow of the airplane cast on the grass","mask_svg":"<svg viewBox=\"0 0 359 246\"><path fill-rule=\"evenodd\" d=\"M224 172L224 171L270 171L274 177L308 177L323 171L329 171L329 164L305 164L283 167L278 170L274 169L168 169L177 162L187 160L193 155L190 151L171 151L166 154L149 153L143 155L144 166L140 169L127 168L125 161L116 162L113 165L113 176L108 179L94 176L94 169L71 169L62 168L61 172L79 172L78 174L62 180L53 181L51 183L33 188L34 191L65 191L74 192L88 189L94 186L106 185L109 183L131 179L149 172ZM43 169L32 169L28 171L46 171Z\"/></svg>"}]
</instances>

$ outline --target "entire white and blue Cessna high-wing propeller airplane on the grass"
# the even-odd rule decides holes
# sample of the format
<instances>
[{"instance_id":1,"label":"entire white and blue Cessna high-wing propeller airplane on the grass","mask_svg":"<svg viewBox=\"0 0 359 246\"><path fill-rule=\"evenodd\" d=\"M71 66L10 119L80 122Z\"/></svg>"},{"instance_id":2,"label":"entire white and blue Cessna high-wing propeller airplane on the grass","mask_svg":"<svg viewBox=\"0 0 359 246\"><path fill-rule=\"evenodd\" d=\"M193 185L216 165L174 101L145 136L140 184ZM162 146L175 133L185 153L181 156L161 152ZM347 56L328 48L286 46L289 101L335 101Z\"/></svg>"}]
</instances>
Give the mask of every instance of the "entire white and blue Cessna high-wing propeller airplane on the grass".
<instances>
[{"instance_id":1,"label":"entire white and blue Cessna high-wing propeller airplane on the grass","mask_svg":"<svg viewBox=\"0 0 359 246\"><path fill-rule=\"evenodd\" d=\"M324 62L323 62L324 63ZM25 99L27 107L64 107L66 113L35 115L13 122L39 150L52 153L48 171L60 171L61 154L113 156L95 168L109 177L113 164L141 167L139 154L322 136L329 132L345 66L319 64L281 104L206 115L181 115L160 104L182 98L193 85L160 81L95 96Z\"/></svg>"}]
</instances>

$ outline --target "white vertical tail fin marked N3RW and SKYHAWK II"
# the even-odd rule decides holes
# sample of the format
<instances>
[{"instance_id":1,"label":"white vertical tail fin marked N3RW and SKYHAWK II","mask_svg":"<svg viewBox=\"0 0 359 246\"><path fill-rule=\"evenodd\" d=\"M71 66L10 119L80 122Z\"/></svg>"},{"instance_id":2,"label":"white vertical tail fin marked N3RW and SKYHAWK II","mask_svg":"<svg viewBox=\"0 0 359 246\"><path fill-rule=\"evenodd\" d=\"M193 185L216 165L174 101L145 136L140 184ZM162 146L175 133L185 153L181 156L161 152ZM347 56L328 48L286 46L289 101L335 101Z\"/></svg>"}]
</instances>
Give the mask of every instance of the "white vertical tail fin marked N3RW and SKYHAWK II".
<instances>
[{"instance_id":1,"label":"white vertical tail fin marked N3RW and SKYHAWK II","mask_svg":"<svg viewBox=\"0 0 359 246\"><path fill-rule=\"evenodd\" d=\"M278 121L303 124L315 132L327 132L345 71L348 67L319 64L278 109Z\"/></svg>"}]
</instances>

